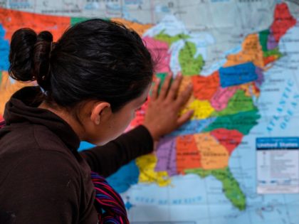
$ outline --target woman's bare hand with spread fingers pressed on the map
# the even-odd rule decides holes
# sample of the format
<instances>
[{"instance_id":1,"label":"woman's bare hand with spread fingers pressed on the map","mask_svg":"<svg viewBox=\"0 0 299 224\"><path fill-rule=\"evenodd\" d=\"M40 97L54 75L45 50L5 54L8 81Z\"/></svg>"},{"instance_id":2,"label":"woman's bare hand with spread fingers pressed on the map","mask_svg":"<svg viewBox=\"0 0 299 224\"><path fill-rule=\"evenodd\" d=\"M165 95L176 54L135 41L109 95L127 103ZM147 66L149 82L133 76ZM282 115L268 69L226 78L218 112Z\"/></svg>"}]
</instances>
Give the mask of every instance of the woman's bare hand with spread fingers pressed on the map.
<instances>
[{"instance_id":1,"label":"woman's bare hand with spread fingers pressed on the map","mask_svg":"<svg viewBox=\"0 0 299 224\"><path fill-rule=\"evenodd\" d=\"M188 111L179 117L179 112L187 103L192 93L192 84L190 84L182 94L177 95L179 85L182 82L182 75L177 75L171 84L172 75L167 75L159 92L159 82L157 79L152 90L152 97L145 114L144 125L149 130L154 141L160 137L177 129L187 122L193 114Z\"/></svg>"}]
</instances>

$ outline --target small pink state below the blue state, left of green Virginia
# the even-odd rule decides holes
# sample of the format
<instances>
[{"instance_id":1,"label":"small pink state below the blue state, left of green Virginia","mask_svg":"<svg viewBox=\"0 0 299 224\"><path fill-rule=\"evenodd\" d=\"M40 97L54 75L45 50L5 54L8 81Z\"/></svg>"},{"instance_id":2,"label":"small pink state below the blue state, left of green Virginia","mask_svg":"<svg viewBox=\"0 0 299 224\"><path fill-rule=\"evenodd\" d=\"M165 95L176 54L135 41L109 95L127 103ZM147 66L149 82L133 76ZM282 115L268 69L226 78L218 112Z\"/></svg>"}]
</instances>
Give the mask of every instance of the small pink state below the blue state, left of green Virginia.
<instances>
[{"instance_id":1,"label":"small pink state below the blue state, left of green Virginia","mask_svg":"<svg viewBox=\"0 0 299 224\"><path fill-rule=\"evenodd\" d=\"M224 110L229 99L235 94L238 87L220 87L215 93L215 95L211 98L211 105L214 107L216 111Z\"/></svg>"}]
</instances>

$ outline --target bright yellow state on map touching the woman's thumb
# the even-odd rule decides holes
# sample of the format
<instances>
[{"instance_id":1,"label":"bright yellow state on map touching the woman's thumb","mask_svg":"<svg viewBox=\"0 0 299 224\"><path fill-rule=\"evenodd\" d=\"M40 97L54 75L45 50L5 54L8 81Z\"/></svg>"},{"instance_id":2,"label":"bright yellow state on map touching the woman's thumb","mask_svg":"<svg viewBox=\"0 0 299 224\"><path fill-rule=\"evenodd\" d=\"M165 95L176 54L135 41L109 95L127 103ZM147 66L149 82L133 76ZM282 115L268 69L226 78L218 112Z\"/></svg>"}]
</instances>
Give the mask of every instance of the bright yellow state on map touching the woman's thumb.
<instances>
[{"instance_id":1,"label":"bright yellow state on map touching the woman's thumb","mask_svg":"<svg viewBox=\"0 0 299 224\"><path fill-rule=\"evenodd\" d=\"M192 99L194 99L194 97L192 97ZM214 108L208 100L198 99L190 102L187 107L182 110L181 114L184 114L189 110L194 110L192 119L206 119L207 117L210 117L212 112L214 112Z\"/></svg>"}]
</instances>

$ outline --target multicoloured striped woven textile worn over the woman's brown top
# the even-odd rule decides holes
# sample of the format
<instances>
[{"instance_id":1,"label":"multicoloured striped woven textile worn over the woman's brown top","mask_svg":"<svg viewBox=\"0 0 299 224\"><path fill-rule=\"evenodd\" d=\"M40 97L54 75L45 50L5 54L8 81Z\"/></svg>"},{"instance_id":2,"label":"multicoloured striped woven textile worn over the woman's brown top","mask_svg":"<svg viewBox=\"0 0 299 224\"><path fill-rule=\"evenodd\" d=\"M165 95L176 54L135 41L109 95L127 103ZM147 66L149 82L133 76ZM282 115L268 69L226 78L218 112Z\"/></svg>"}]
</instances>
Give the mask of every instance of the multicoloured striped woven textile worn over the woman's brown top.
<instances>
[{"instance_id":1,"label":"multicoloured striped woven textile worn over the woman's brown top","mask_svg":"<svg viewBox=\"0 0 299 224\"><path fill-rule=\"evenodd\" d=\"M5 121L0 121L0 128L4 125ZM95 209L98 211L98 223L130 224L122 198L105 178L92 171L91 180L95 186Z\"/></svg>"}]
</instances>

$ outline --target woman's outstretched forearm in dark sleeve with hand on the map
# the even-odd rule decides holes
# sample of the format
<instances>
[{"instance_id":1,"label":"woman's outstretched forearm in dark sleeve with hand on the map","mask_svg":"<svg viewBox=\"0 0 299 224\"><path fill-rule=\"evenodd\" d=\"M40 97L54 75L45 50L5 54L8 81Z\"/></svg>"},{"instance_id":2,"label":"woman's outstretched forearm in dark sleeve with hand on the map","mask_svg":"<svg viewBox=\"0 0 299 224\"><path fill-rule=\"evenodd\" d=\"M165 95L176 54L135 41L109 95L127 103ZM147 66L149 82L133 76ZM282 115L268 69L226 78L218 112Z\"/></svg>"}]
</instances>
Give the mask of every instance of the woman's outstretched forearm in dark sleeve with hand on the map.
<instances>
[{"instance_id":1,"label":"woman's outstretched forearm in dark sleeve with hand on the map","mask_svg":"<svg viewBox=\"0 0 299 224\"><path fill-rule=\"evenodd\" d=\"M182 76L177 76L172 84L171 80L172 75L168 75L160 92L159 80L156 80L143 125L122 134L105 146L95 146L80 153L93 171L110 176L138 156L152 152L154 142L190 119L192 111L180 117L178 114L189 100L192 86L177 95Z\"/></svg>"}]
</instances>

